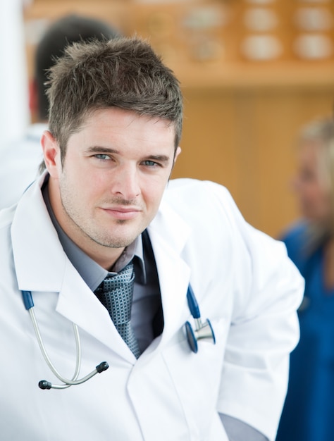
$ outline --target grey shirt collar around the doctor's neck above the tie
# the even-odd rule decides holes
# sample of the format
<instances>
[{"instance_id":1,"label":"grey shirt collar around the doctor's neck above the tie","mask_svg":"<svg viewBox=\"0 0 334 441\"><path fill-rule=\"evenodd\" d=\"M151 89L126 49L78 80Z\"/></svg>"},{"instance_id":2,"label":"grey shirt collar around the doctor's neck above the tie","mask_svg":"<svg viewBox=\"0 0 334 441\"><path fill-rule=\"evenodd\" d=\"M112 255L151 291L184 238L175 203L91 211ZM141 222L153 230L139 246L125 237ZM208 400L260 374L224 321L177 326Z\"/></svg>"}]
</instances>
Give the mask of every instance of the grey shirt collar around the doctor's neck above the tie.
<instances>
[{"instance_id":1,"label":"grey shirt collar around the doctor's neck above the tie","mask_svg":"<svg viewBox=\"0 0 334 441\"><path fill-rule=\"evenodd\" d=\"M45 185L46 184L46 185ZM73 242L73 240L66 235L66 232L59 225L56 216L54 215L54 211L51 208L51 203L49 199L49 191L47 187L47 181L44 182L44 186L42 187L43 197L47 209L49 211L49 216L51 218L52 223L54 224L54 228L56 228L56 232L58 233L59 241L65 251L68 259L70 259L71 263L78 271L80 276L85 283L89 286L89 288L94 291L100 285L102 280L106 278L107 275L114 275L118 273L121 269L123 269L128 263L133 259L134 256L137 257L137 262L139 265L139 271L142 273L140 276L142 280L146 282L146 271L144 264L144 253L142 247L142 235L138 236L132 244L128 245L120 255L116 263L114 264L112 270L107 271L102 268L96 261L90 258L87 254L85 254L82 249L78 247L77 244Z\"/></svg>"}]
</instances>

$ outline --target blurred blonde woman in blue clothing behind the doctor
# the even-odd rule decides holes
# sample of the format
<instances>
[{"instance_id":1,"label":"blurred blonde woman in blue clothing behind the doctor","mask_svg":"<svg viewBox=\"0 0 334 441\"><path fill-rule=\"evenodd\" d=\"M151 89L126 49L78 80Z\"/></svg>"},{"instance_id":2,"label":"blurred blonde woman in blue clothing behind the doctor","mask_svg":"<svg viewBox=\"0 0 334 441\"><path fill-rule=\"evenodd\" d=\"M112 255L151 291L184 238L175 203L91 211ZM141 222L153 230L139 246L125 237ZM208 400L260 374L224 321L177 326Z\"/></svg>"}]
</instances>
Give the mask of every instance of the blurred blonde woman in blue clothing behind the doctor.
<instances>
[{"instance_id":1,"label":"blurred blonde woman in blue clothing behind the doctor","mask_svg":"<svg viewBox=\"0 0 334 441\"><path fill-rule=\"evenodd\" d=\"M298 140L294 189L302 220L285 232L290 259L306 282L300 341L277 441L334 437L334 122L316 120Z\"/></svg>"}]
</instances>

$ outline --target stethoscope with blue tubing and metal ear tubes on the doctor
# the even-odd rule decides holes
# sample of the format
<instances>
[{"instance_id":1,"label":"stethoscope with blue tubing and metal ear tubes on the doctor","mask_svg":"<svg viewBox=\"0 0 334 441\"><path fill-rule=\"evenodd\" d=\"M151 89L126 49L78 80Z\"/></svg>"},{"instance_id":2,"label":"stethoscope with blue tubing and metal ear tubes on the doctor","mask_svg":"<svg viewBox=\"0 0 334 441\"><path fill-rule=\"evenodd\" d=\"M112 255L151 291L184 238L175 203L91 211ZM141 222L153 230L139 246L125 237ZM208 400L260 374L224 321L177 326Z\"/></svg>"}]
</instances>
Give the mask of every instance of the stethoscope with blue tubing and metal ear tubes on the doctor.
<instances>
[{"instance_id":1,"label":"stethoscope with blue tubing and metal ear tubes on the doctor","mask_svg":"<svg viewBox=\"0 0 334 441\"><path fill-rule=\"evenodd\" d=\"M94 371L88 373L87 375L85 375L85 377L78 378L81 367L81 344L80 344L78 325L72 323L73 332L75 336L75 347L76 347L75 371L72 378L65 378L63 377L63 375L58 373L54 364L51 362L49 355L47 354L47 349L45 348L42 335L39 332L39 326L34 311L34 302L32 300L32 293L30 291L22 291L22 296L23 296L23 303L25 304L25 309L27 309L27 311L29 311L30 313L30 318L35 330L37 342L39 344L39 348L41 349L42 355L44 356L44 360L46 361L50 370L54 373L54 375L56 375L58 380L64 383L62 385L54 385L47 380L40 380L38 385L41 389L44 390L66 389L67 387L70 386L81 385L90 378L94 377L94 375L97 375L97 373L104 372L109 368L109 364L106 361L102 361L100 364L96 366L96 368L94 368ZM190 324L189 321L187 321L185 323L185 330L187 334L187 341L190 345L190 349L192 350L192 352L196 354L198 351L198 345L197 345L198 340L202 340L202 339L211 340L214 344L216 344L216 337L214 335L214 330L211 326L210 321L206 319L206 321L202 323L201 314L199 313L199 306L197 304L196 297L194 296L194 292L192 291L192 287L190 285L187 290L187 302L190 309L190 313L194 318L195 329L193 330L192 325Z\"/></svg>"}]
</instances>

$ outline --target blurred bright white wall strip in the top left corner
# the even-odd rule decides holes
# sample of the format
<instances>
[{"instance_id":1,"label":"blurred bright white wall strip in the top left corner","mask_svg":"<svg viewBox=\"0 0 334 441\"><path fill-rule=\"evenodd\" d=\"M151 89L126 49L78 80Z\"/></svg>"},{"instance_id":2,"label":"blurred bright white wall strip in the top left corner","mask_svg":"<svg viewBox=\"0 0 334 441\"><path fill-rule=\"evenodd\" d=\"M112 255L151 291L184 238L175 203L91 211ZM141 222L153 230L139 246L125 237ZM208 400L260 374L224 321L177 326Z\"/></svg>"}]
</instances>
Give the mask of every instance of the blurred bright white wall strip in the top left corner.
<instances>
[{"instance_id":1,"label":"blurred bright white wall strip in the top left corner","mask_svg":"<svg viewBox=\"0 0 334 441\"><path fill-rule=\"evenodd\" d=\"M1 149L20 138L30 120L23 0L0 1L0 66Z\"/></svg>"}]
</instances>

